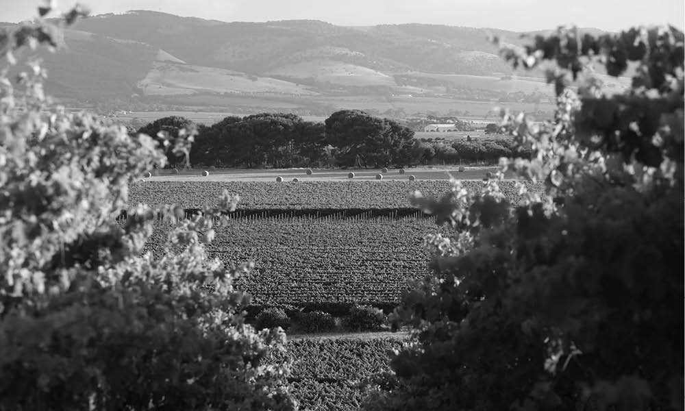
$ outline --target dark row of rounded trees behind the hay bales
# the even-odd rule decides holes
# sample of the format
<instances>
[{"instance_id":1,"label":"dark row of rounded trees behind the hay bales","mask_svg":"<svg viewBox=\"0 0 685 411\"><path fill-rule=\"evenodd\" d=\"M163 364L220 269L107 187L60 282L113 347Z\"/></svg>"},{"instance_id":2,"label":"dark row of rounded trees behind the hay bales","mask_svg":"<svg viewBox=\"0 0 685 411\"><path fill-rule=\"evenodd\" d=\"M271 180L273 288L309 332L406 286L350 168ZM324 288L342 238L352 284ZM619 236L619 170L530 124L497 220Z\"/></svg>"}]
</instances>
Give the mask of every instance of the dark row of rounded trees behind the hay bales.
<instances>
[{"instance_id":1,"label":"dark row of rounded trees behind the hay bales","mask_svg":"<svg viewBox=\"0 0 685 411\"><path fill-rule=\"evenodd\" d=\"M208 126L195 125L181 116L169 116L129 132L147 134L162 143L167 138L178 138L179 130L186 127L197 129L190 149L193 166L379 168L494 164L501 157L520 154L511 138L417 140L410 127L361 110L334 112L323 123L305 121L296 114L262 113L227 116ZM184 155L172 153L171 148L166 155L169 166L183 166Z\"/></svg>"}]
</instances>

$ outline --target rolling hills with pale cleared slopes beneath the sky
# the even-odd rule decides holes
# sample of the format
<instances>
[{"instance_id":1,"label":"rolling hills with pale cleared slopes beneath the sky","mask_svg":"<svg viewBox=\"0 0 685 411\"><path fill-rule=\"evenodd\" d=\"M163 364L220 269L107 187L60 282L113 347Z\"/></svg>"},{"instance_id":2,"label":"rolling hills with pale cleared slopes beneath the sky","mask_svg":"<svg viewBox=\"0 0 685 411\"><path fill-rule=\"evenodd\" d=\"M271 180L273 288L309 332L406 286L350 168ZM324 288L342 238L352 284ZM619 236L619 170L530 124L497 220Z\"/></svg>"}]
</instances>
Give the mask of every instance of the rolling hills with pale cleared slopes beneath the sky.
<instances>
[{"instance_id":1,"label":"rolling hills with pale cleared slopes beneath the sky","mask_svg":"<svg viewBox=\"0 0 685 411\"><path fill-rule=\"evenodd\" d=\"M345 97L397 109L408 98L413 107L416 99L551 97L539 73L512 73L488 33L521 41L497 29L226 23L136 10L85 18L64 32L59 53L40 55L49 92L76 103L316 110Z\"/></svg>"}]
</instances>

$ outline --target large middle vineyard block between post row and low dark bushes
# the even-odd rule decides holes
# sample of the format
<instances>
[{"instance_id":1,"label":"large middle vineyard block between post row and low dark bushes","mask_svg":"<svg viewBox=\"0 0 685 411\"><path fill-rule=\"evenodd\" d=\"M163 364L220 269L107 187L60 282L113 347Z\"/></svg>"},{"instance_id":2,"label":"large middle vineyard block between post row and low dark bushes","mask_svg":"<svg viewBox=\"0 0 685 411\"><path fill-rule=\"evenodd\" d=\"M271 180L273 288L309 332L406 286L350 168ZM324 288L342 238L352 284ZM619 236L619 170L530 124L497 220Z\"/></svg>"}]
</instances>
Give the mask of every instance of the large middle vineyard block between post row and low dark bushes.
<instances>
[{"instance_id":1,"label":"large middle vineyard block between post row and low dark bushes","mask_svg":"<svg viewBox=\"0 0 685 411\"><path fill-rule=\"evenodd\" d=\"M170 227L158 223L156 244ZM436 232L449 229L423 216L236 218L206 249L227 266L254 262L236 285L256 306L393 306L427 274L423 237Z\"/></svg>"}]
</instances>

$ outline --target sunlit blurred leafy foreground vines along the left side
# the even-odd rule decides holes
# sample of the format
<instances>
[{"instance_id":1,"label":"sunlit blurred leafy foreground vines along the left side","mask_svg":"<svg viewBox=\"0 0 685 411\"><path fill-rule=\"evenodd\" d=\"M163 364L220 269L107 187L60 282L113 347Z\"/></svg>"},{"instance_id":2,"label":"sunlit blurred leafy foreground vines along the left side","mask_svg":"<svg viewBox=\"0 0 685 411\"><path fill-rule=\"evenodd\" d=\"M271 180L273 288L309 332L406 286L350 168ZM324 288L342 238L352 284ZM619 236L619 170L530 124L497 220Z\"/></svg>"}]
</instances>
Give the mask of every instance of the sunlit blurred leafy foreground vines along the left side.
<instances>
[{"instance_id":1,"label":"sunlit blurred leafy foreground vines along the left side","mask_svg":"<svg viewBox=\"0 0 685 411\"><path fill-rule=\"evenodd\" d=\"M50 11L3 30L10 64L27 45L55 47ZM149 136L49 105L45 71L31 69L0 78L0 409L295 409L284 366L263 362L282 330L246 325L249 296L233 287L249 265L223 266L201 243L238 199L181 221L175 206L140 205L118 223L129 184L166 155ZM180 158L192 134L158 138ZM142 250L158 216L177 223L153 258Z\"/></svg>"}]
</instances>

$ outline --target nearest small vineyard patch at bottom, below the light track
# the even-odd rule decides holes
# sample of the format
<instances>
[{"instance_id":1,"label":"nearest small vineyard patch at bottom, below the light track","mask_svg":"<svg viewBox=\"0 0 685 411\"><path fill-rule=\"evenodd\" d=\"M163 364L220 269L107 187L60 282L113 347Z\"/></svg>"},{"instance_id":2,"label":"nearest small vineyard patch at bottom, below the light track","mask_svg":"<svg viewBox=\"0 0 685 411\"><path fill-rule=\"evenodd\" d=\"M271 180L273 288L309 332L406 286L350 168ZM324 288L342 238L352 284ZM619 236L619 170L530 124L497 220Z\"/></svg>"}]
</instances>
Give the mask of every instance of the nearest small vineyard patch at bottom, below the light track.
<instances>
[{"instance_id":1,"label":"nearest small vineyard patch at bottom, below the light track","mask_svg":"<svg viewBox=\"0 0 685 411\"><path fill-rule=\"evenodd\" d=\"M363 399L361 380L389 371L389 353L401 343L399 338L295 340L267 361L292 361L288 381L301 410L352 411Z\"/></svg>"}]
</instances>

